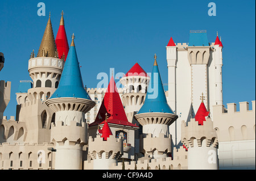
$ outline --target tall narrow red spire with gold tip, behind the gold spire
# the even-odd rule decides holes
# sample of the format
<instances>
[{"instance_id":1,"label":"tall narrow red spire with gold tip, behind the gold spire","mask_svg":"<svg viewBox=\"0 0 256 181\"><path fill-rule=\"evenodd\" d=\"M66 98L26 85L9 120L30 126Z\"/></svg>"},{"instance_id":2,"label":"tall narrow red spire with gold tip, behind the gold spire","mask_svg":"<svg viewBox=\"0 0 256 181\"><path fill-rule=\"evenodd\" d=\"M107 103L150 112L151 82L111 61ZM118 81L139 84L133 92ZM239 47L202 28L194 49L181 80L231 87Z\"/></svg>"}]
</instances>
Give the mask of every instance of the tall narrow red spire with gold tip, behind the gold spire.
<instances>
[{"instance_id":1,"label":"tall narrow red spire with gold tip, behind the gold spire","mask_svg":"<svg viewBox=\"0 0 256 181\"><path fill-rule=\"evenodd\" d=\"M60 26L59 26L59 30L57 32L55 43L56 43L57 51L59 53L59 58L61 58L64 54L65 61L66 61L66 58L68 56L69 46L68 46L68 39L67 39L65 27L64 27L63 13L61 13L61 14L62 14L62 16L60 19Z\"/></svg>"}]
</instances>

